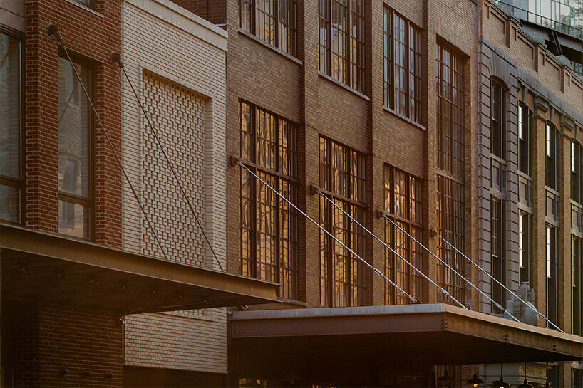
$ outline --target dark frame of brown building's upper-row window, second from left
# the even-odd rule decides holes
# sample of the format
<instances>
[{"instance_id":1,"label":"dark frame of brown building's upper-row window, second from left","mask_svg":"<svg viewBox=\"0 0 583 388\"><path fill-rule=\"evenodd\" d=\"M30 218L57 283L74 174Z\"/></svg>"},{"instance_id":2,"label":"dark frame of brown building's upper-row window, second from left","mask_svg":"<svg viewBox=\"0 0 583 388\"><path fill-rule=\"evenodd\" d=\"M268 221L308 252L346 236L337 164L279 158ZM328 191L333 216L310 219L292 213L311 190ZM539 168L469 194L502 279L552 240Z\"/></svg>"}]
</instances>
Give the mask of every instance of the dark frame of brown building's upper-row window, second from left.
<instances>
[{"instance_id":1,"label":"dark frame of brown building's upper-row window, second from left","mask_svg":"<svg viewBox=\"0 0 583 388\"><path fill-rule=\"evenodd\" d=\"M356 90L358 93L363 93L364 90L364 78L366 72L366 45L365 45L365 20L364 20L364 1L356 0L356 6L360 4L360 9L355 10L352 7L353 1L346 0L346 5L341 4L343 0L319 0L318 1L318 21L319 21L319 65L318 71L325 74L334 80L342 83L349 88ZM326 4L325 10L323 10L323 5ZM333 24L332 15L334 14L334 6L341 7L346 14L346 30L339 31L344 33L344 51L346 56L338 56L341 58L342 63L344 63L344 69L341 71L342 75L336 76L334 71L334 52L333 43L331 36L333 35ZM323 13L327 14L324 15ZM358 23L353 24L353 19L356 18ZM322 26L326 25L326 34L322 34ZM356 26L356 36L353 36L354 28ZM354 43L356 42L356 43ZM352 46L356 44L356 60L354 59L354 53L352 51ZM324 63L322 63L322 52L324 55ZM356 73L356 77L354 76ZM340 74L340 73L339 73ZM356 80L355 80L356 79Z\"/></svg>"}]
</instances>

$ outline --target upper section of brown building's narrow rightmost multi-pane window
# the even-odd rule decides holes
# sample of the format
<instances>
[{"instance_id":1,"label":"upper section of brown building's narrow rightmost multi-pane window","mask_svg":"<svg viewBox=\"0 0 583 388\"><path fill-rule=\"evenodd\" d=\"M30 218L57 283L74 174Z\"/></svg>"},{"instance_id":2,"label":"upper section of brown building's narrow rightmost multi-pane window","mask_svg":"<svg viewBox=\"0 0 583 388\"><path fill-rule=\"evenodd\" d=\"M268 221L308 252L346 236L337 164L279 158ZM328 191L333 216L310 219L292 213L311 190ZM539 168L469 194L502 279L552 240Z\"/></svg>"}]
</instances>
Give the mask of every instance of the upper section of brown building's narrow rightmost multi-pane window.
<instances>
[{"instance_id":1,"label":"upper section of brown building's narrow rightmost multi-pane window","mask_svg":"<svg viewBox=\"0 0 583 388\"><path fill-rule=\"evenodd\" d=\"M438 43L438 168L463 179L465 118L462 62L455 49Z\"/></svg>"}]
</instances>

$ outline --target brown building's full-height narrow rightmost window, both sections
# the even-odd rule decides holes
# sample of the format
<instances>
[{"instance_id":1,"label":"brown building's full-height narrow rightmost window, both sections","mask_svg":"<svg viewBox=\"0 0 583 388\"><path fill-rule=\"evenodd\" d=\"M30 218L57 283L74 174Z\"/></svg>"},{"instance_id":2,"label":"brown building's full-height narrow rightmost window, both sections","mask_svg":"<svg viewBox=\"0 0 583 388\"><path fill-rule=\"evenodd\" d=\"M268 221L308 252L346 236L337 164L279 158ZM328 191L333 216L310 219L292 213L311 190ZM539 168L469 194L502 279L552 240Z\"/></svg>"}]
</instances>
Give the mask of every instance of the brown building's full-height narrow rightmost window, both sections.
<instances>
[{"instance_id":1,"label":"brown building's full-height narrow rightmost window, both sections","mask_svg":"<svg viewBox=\"0 0 583 388\"><path fill-rule=\"evenodd\" d=\"M460 251L465 250L464 209L464 80L463 59L447 43L437 45L438 233ZM443 241L440 258L465 273L463 256ZM463 279L438 263L438 283L457 300L465 300ZM440 298L442 298L440 296Z\"/></svg>"}]
</instances>

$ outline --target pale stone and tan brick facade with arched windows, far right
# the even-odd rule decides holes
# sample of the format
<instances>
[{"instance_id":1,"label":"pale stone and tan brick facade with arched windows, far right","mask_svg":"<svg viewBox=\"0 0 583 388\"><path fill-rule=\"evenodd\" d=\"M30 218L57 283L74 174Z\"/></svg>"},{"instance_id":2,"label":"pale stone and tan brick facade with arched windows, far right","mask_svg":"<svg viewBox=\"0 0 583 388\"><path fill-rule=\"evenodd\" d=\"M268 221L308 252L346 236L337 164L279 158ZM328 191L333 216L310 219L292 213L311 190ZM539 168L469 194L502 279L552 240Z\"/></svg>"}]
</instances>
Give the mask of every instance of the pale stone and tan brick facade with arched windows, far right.
<instances>
[{"instance_id":1,"label":"pale stone and tan brick facade with arched windows, far right","mask_svg":"<svg viewBox=\"0 0 583 388\"><path fill-rule=\"evenodd\" d=\"M507 286L515 290L518 284L518 211L532 214L532 281L537 309L547 314L547 264L546 228L556 226L558 235L559 268L559 320L557 325L565 332L571 331L572 313L572 259L571 238L580 236L577 223L577 204L571 201L571 150L572 140L581 143L583 125L583 81L566 66L559 63L543 46L535 43L510 16L504 14L490 1L481 4L483 31L480 63L478 67L480 120L478 127L480 171L480 199L478 201L480 229L480 263L490 268L490 196L500 196L500 187L506 203ZM490 82L497 79L504 85L507 95L506 154L500 161L490 154ZM533 112L532 123L532 177L519 171L518 158L518 103L524 103ZM559 129L559 179L557 190L546 186L547 122ZM501 174L492 173L502 166ZM497 176L499 178L497 178ZM492 178L493 177L493 178ZM558 207L556 206L558 201ZM554 204L554 205L553 205ZM490 280L480 275L480 288L490 289ZM509 295L511 298L512 295ZM480 300L480 310L490 311L490 303ZM545 326L544 320L539 320ZM505 374L512 375L510 382L522 382L523 367L505 365ZM559 386L571 386L571 365L559 367ZM491 370L490 370L491 369ZM528 365L530 382L545 384L545 366ZM520 371L520 373L519 373ZM487 381L497 379L498 370L486 368ZM486 380L486 379L485 379ZM509 381L509 379L507 379Z\"/></svg>"}]
</instances>

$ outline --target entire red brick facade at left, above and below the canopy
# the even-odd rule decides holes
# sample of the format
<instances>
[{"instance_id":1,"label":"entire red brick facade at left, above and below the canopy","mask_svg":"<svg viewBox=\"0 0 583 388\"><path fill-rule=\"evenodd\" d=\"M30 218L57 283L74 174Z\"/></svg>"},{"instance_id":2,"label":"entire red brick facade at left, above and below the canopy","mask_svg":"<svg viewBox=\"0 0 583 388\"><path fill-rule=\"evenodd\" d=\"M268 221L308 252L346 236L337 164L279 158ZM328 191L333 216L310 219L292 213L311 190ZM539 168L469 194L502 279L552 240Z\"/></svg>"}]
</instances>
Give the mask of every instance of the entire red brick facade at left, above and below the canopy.
<instances>
[{"instance_id":1,"label":"entire red brick facade at left, above and below the canopy","mask_svg":"<svg viewBox=\"0 0 583 388\"><path fill-rule=\"evenodd\" d=\"M120 2L97 0L92 10L65 0L26 1L22 9L11 3L6 5L13 13L6 20L11 28L6 31L22 39L24 63L21 152L26 190L21 221L31 229L56 233L58 58L65 54L56 39L48 36L48 26L56 25L73 59L91 68L92 98L119 152L121 78L110 58L112 52L120 51ZM1 12L4 24L7 11ZM90 189L92 237L120 247L120 169L94 117L91 132L95 155ZM117 318L24 303L13 309L4 301L2 310L3 318L5 314L14 318L3 324L3 341L9 330L13 345L7 349L3 344L3 357L6 350L11 354L9 364L2 365L4 383L9 384L6 376L10 374L15 387L121 387L123 340ZM59 374L61 369L68 373ZM91 376L83 377L83 372Z\"/></svg>"}]
</instances>

